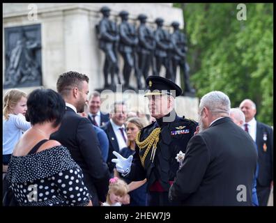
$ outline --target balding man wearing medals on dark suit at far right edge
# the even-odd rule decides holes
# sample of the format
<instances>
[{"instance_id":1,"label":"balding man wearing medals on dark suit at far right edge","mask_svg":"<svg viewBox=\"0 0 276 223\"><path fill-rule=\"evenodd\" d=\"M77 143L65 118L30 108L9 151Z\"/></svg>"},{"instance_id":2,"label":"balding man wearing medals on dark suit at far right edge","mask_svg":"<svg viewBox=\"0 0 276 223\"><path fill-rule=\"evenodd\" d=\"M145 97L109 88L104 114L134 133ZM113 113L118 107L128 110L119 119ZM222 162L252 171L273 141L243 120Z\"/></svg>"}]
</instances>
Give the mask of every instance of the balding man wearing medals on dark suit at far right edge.
<instances>
[{"instance_id":1,"label":"balding man wearing medals on dark suit at far right edge","mask_svg":"<svg viewBox=\"0 0 276 223\"><path fill-rule=\"evenodd\" d=\"M259 175L256 190L259 206L267 206L270 187L273 186L273 129L256 121L256 105L252 100L243 100L240 109L245 114L243 129L250 134L258 147Z\"/></svg>"}]
</instances>

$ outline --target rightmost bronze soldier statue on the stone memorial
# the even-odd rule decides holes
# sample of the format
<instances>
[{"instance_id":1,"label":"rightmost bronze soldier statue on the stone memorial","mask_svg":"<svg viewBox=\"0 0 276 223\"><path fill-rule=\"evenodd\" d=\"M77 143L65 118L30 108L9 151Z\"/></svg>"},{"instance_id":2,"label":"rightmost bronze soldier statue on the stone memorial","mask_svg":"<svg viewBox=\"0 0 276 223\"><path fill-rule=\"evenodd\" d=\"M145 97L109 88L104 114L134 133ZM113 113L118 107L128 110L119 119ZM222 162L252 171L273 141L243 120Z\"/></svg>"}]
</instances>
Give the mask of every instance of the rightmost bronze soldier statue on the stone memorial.
<instances>
[{"instance_id":1,"label":"rightmost bronze soldier statue on the stone memorial","mask_svg":"<svg viewBox=\"0 0 276 223\"><path fill-rule=\"evenodd\" d=\"M174 28L174 33L171 34L171 43L173 46L173 56L171 58L173 71L172 81L175 82L176 69L180 66L184 75L185 93L194 93L194 89L190 86L189 66L186 63L187 41L185 35L179 30L178 22L172 22L171 26Z\"/></svg>"}]
</instances>

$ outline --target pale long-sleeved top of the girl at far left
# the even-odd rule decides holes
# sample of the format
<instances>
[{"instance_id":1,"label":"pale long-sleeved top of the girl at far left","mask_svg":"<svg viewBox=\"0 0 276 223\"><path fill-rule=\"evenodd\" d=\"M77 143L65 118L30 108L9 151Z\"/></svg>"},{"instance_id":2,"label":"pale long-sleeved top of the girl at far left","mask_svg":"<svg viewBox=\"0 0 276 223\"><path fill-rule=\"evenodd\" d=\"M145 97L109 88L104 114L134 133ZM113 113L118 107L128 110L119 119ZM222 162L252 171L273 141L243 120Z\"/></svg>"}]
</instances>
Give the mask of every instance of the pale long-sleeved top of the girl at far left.
<instances>
[{"instance_id":1,"label":"pale long-sleeved top of the girl at far left","mask_svg":"<svg viewBox=\"0 0 276 223\"><path fill-rule=\"evenodd\" d=\"M8 120L3 118L3 155L13 153L15 144L20 140L24 131L31 128L31 123L20 114L8 114Z\"/></svg>"}]
</instances>

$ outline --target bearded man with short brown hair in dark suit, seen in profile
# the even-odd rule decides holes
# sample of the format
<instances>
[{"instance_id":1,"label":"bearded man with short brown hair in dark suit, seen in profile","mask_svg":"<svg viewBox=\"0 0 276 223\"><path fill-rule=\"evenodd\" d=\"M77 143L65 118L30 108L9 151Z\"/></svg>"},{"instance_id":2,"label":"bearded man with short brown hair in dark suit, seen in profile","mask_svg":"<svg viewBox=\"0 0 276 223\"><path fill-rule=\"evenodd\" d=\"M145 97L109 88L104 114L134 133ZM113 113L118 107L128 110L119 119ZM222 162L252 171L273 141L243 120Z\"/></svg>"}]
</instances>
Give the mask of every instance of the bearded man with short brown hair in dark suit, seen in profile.
<instances>
[{"instance_id":1,"label":"bearded man with short brown hair in dark suit, seen in profile","mask_svg":"<svg viewBox=\"0 0 276 223\"><path fill-rule=\"evenodd\" d=\"M51 135L66 146L72 158L82 168L84 184L92 195L93 206L99 201L105 202L109 173L107 164L103 162L100 145L93 125L87 118L77 112L84 112L89 93L89 78L78 72L66 72L59 76L56 83L57 91L66 101L66 114L61 127Z\"/></svg>"}]
</instances>

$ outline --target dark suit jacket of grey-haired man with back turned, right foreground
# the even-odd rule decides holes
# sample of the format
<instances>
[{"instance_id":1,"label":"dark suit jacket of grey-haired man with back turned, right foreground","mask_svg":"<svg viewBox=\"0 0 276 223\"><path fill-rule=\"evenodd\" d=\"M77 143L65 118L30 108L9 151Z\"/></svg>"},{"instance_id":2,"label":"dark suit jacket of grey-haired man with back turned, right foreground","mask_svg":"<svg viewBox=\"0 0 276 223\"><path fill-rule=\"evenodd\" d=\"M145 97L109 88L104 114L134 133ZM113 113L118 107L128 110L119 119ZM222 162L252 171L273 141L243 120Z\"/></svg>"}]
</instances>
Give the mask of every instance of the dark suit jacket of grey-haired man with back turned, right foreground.
<instances>
[{"instance_id":1,"label":"dark suit jacket of grey-haired man with back turned, right foreground","mask_svg":"<svg viewBox=\"0 0 276 223\"><path fill-rule=\"evenodd\" d=\"M250 135L221 118L190 139L169 198L188 206L251 206L256 164Z\"/></svg>"}]
</instances>

